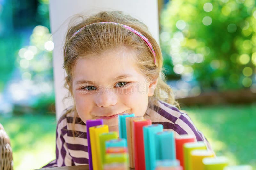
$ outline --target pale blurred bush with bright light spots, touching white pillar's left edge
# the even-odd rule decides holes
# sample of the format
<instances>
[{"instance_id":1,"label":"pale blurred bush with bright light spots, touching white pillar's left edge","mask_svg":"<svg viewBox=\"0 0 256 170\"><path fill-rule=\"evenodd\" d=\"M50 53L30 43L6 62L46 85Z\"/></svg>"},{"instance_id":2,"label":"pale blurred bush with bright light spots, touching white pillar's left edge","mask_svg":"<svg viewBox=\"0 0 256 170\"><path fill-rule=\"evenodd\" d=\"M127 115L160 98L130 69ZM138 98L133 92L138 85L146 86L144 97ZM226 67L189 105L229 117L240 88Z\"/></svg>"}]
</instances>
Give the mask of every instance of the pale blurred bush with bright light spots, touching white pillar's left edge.
<instances>
[{"instance_id":1,"label":"pale blurred bush with bright light spots, touching white pillar's left edge","mask_svg":"<svg viewBox=\"0 0 256 170\"><path fill-rule=\"evenodd\" d=\"M55 101L52 70L54 45L49 29L36 26L30 35L29 44L30 46L24 46L19 50L16 67L20 69L23 81L32 81L33 85L38 87L39 94L30 106L39 111L47 109Z\"/></svg>"}]
</instances>

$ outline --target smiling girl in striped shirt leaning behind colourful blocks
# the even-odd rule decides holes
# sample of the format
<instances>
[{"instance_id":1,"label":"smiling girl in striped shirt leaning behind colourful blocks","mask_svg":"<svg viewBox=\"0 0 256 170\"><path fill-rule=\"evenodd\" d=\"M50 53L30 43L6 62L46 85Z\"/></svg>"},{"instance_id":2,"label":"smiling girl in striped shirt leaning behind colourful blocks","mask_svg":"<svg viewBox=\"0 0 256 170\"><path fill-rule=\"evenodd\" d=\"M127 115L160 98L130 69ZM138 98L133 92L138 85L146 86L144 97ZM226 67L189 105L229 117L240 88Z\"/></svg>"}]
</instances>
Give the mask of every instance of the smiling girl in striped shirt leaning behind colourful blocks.
<instances>
[{"instance_id":1,"label":"smiling girl in striped shirt leaning behind colourful blocks","mask_svg":"<svg viewBox=\"0 0 256 170\"><path fill-rule=\"evenodd\" d=\"M74 106L58 121L56 160L44 167L88 164L86 120L103 119L109 131L118 132L121 113L144 116L176 136L193 135L211 150L188 115L178 109L162 66L160 47L148 27L121 11L103 11L70 27L63 68Z\"/></svg>"}]
</instances>

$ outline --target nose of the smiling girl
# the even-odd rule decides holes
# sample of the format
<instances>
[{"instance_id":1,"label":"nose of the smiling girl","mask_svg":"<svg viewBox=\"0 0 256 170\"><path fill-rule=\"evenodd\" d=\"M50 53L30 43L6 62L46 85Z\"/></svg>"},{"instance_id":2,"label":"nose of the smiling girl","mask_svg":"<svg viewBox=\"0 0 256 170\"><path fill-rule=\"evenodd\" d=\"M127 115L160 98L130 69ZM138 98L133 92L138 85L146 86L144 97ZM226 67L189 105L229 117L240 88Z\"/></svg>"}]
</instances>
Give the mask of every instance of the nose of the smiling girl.
<instances>
[{"instance_id":1,"label":"nose of the smiling girl","mask_svg":"<svg viewBox=\"0 0 256 170\"><path fill-rule=\"evenodd\" d=\"M95 98L95 103L98 107L109 107L117 103L117 96L112 90L101 90Z\"/></svg>"}]
</instances>

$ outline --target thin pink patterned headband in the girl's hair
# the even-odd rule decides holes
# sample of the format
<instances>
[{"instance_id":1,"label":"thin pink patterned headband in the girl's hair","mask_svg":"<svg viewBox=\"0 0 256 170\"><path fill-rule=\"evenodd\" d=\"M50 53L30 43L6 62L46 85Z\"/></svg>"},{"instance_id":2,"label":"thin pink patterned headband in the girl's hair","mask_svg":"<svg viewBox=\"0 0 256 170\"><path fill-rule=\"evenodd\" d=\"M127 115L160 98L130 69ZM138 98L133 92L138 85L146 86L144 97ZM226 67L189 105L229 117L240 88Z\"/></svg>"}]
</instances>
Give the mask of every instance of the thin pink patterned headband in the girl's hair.
<instances>
[{"instance_id":1,"label":"thin pink patterned headband in the girl's hair","mask_svg":"<svg viewBox=\"0 0 256 170\"><path fill-rule=\"evenodd\" d=\"M148 39L142 35L140 32L138 32L137 30L134 30L133 28L127 26L127 25L124 25L124 24L119 24L119 23L116 23L116 22L97 22L97 23L113 23L113 24L116 24L116 25L121 25L123 26L124 28L130 30L131 32L135 33L136 35L140 36L145 42L146 44L148 45L148 47L150 48L150 50L152 51L153 55L154 55L154 63L156 64L156 52L152 46L152 44L148 41ZM97 23L92 23L92 24L97 24ZM89 25L92 25L92 24L89 24ZM70 38L72 38L74 35L76 35L78 32L80 32L82 29L84 29L86 26L88 25L85 25L83 26L82 28L80 28L77 32L75 32ZM65 49L65 53L66 53L66 49Z\"/></svg>"}]
</instances>

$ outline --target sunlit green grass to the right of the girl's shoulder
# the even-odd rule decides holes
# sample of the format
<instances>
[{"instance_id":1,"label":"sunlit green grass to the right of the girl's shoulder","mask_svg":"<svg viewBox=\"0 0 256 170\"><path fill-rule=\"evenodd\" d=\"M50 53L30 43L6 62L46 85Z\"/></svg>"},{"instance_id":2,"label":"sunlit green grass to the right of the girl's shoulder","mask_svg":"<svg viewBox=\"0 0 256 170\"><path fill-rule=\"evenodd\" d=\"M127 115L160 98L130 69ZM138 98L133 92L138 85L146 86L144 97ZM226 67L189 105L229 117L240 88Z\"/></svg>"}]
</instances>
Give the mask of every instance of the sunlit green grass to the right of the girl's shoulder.
<instances>
[{"instance_id":1,"label":"sunlit green grass to the right of the girl's shoulder","mask_svg":"<svg viewBox=\"0 0 256 170\"><path fill-rule=\"evenodd\" d=\"M204 133L217 156L231 165L256 167L256 105L183 108Z\"/></svg>"}]
</instances>

